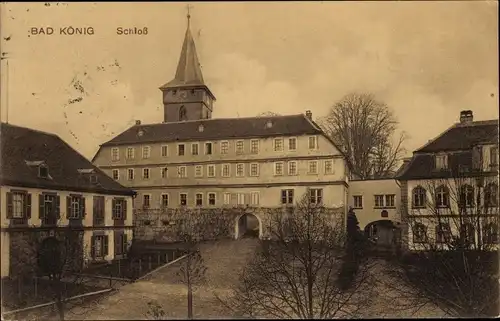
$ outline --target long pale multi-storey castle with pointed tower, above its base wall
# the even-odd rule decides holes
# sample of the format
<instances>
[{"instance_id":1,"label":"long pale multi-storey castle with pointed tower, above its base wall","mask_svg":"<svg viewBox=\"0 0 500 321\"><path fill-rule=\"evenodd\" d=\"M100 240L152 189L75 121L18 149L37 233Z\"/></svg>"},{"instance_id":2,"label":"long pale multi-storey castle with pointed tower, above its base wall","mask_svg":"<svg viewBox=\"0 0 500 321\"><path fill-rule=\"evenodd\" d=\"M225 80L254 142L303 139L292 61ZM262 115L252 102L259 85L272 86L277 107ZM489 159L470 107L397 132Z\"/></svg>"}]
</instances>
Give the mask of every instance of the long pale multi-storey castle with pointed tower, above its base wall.
<instances>
[{"instance_id":1,"label":"long pale multi-storey castle with pointed tower, above its base wall","mask_svg":"<svg viewBox=\"0 0 500 321\"><path fill-rule=\"evenodd\" d=\"M308 193L345 210L348 167L312 113L212 118L189 18L175 77L160 87L162 123L136 124L102 144L93 162L137 191L134 206L280 207Z\"/></svg>"}]
</instances>

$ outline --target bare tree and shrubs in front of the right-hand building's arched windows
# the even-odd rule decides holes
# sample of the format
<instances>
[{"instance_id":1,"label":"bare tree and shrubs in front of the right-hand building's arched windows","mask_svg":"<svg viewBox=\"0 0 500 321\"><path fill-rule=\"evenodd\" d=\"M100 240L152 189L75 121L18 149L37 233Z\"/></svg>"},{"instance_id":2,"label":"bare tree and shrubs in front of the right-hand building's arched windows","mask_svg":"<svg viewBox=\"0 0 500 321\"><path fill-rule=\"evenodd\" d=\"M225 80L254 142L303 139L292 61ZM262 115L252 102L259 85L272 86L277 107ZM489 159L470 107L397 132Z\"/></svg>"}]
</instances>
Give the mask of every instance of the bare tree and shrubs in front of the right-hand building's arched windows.
<instances>
[{"instance_id":1,"label":"bare tree and shrubs in front of the right-hand building's arched windows","mask_svg":"<svg viewBox=\"0 0 500 321\"><path fill-rule=\"evenodd\" d=\"M389 269L400 282L388 286L453 317L498 315L497 176L462 168L423 180L405 210L413 251Z\"/></svg>"}]
</instances>

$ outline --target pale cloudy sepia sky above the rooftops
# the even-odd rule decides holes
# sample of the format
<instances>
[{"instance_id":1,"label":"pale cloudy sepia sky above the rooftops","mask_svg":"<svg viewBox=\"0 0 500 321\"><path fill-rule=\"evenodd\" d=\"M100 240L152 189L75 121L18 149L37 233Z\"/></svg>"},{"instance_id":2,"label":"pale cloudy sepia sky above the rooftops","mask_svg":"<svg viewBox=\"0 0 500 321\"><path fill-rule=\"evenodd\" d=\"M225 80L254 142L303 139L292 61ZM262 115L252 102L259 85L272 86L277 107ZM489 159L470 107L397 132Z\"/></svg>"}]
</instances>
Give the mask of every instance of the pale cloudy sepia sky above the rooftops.
<instances>
[{"instance_id":1,"label":"pale cloudy sepia sky above the rooftops","mask_svg":"<svg viewBox=\"0 0 500 321\"><path fill-rule=\"evenodd\" d=\"M409 155L461 110L498 119L496 1L190 7L214 118L311 110L317 119L346 94L371 93L393 110ZM2 3L0 14L0 51L9 57L2 121L8 109L9 123L56 133L91 159L135 120L163 120L159 87L175 74L186 3ZM69 26L94 34L59 34ZM118 27L148 32L117 35Z\"/></svg>"}]
</instances>

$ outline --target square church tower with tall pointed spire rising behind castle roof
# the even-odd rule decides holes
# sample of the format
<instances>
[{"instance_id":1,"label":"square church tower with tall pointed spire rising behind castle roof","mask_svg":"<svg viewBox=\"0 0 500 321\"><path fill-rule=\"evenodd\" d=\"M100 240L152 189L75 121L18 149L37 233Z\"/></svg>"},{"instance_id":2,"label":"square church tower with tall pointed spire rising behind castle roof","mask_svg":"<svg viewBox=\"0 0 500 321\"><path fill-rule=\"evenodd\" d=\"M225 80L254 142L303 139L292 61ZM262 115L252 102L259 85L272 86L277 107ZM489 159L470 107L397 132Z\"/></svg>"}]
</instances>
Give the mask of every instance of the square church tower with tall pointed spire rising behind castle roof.
<instances>
[{"instance_id":1,"label":"square church tower with tall pointed spire rising behind castle roof","mask_svg":"<svg viewBox=\"0 0 500 321\"><path fill-rule=\"evenodd\" d=\"M175 78L160 87L165 123L212 118L215 96L203 80L191 35L190 18L188 12L187 29Z\"/></svg>"}]
</instances>

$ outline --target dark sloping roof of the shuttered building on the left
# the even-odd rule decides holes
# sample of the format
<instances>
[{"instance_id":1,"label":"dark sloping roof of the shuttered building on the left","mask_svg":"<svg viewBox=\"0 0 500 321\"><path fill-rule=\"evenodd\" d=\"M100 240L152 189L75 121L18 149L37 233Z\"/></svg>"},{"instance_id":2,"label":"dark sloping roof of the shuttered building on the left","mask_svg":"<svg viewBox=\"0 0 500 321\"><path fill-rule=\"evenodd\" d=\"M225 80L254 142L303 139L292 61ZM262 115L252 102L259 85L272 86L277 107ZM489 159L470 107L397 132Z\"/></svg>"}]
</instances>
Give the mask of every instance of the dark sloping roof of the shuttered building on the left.
<instances>
[{"instance_id":1,"label":"dark sloping roof of the shuttered building on the left","mask_svg":"<svg viewBox=\"0 0 500 321\"><path fill-rule=\"evenodd\" d=\"M25 188L134 195L115 182L57 135L1 123L0 183ZM48 167L49 178L38 175L37 163ZM93 169L93 173L79 170ZM97 177L91 182L91 175Z\"/></svg>"}]
</instances>

